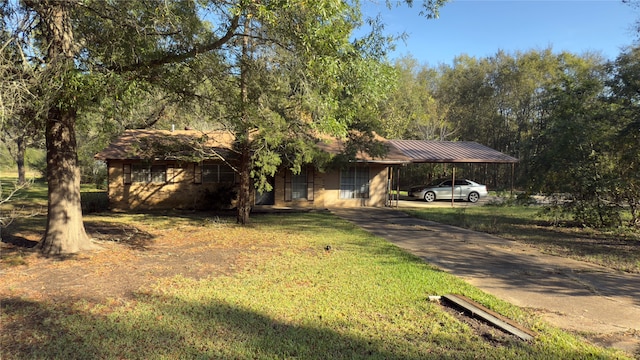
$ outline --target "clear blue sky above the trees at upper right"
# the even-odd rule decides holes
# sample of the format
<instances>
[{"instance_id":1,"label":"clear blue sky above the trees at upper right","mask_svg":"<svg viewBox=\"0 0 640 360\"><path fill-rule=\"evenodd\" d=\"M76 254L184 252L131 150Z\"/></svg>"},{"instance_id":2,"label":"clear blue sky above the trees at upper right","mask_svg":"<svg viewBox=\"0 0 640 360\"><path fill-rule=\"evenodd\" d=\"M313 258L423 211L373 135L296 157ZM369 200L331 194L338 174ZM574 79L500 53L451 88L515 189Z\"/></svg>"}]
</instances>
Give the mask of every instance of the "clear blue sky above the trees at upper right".
<instances>
[{"instance_id":1,"label":"clear blue sky above the trees at upper right","mask_svg":"<svg viewBox=\"0 0 640 360\"><path fill-rule=\"evenodd\" d=\"M620 0L454 0L440 18L418 15L414 7L388 10L384 0L363 2L365 15L380 13L389 34L406 32L391 59L411 55L422 64L451 64L457 55L475 57L551 47L576 54L599 52L614 59L636 39L640 12Z\"/></svg>"}]
</instances>

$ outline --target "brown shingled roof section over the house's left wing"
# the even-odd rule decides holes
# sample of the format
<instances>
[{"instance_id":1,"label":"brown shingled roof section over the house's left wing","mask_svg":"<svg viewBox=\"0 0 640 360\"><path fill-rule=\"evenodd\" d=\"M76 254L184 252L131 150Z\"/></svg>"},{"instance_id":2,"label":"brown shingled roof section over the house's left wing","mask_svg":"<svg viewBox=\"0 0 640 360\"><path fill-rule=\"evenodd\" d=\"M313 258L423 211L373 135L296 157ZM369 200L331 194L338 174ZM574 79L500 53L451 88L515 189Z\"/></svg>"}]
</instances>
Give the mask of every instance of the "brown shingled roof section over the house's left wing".
<instances>
[{"instance_id":1,"label":"brown shingled roof section over the house's left wing","mask_svg":"<svg viewBox=\"0 0 640 360\"><path fill-rule=\"evenodd\" d=\"M104 150L95 155L98 160L133 160L149 158L175 159L206 149L212 158L215 152L228 152L235 137L228 131L202 132L196 130L126 130Z\"/></svg>"}]
</instances>

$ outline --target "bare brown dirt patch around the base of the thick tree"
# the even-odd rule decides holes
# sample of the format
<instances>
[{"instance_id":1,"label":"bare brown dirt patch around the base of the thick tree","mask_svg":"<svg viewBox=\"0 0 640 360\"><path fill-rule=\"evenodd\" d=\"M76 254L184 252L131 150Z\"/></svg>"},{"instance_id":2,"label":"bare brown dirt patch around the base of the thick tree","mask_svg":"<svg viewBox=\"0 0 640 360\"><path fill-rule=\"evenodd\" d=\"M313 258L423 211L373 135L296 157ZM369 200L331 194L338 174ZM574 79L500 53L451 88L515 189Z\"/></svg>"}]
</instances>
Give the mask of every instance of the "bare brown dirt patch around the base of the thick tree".
<instances>
[{"instance_id":1,"label":"bare brown dirt patch around the base of the thick tree","mask_svg":"<svg viewBox=\"0 0 640 360\"><path fill-rule=\"evenodd\" d=\"M224 241L224 225L158 229L101 221L85 222L100 250L65 259L41 256L38 234L11 233L0 243L0 298L103 302L132 298L145 286L176 275L201 279L228 275L258 255L259 244ZM265 247L265 249L268 247Z\"/></svg>"}]
</instances>

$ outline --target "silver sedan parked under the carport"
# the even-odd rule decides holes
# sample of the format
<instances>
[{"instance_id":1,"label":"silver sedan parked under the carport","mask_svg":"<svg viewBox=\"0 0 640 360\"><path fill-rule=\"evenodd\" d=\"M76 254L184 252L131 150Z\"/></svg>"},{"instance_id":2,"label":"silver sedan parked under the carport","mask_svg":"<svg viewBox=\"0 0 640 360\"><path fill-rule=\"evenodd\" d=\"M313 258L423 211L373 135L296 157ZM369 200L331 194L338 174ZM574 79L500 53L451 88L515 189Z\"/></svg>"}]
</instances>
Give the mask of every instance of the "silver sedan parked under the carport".
<instances>
[{"instance_id":1,"label":"silver sedan parked under the carport","mask_svg":"<svg viewBox=\"0 0 640 360\"><path fill-rule=\"evenodd\" d=\"M451 179L438 180L431 185L414 186L409 189L409 196L424 199L426 202L434 200L451 200ZM455 200L467 200L472 203L487 196L487 187L467 179L456 179L453 186Z\"/></svg>"}]
</instances>

